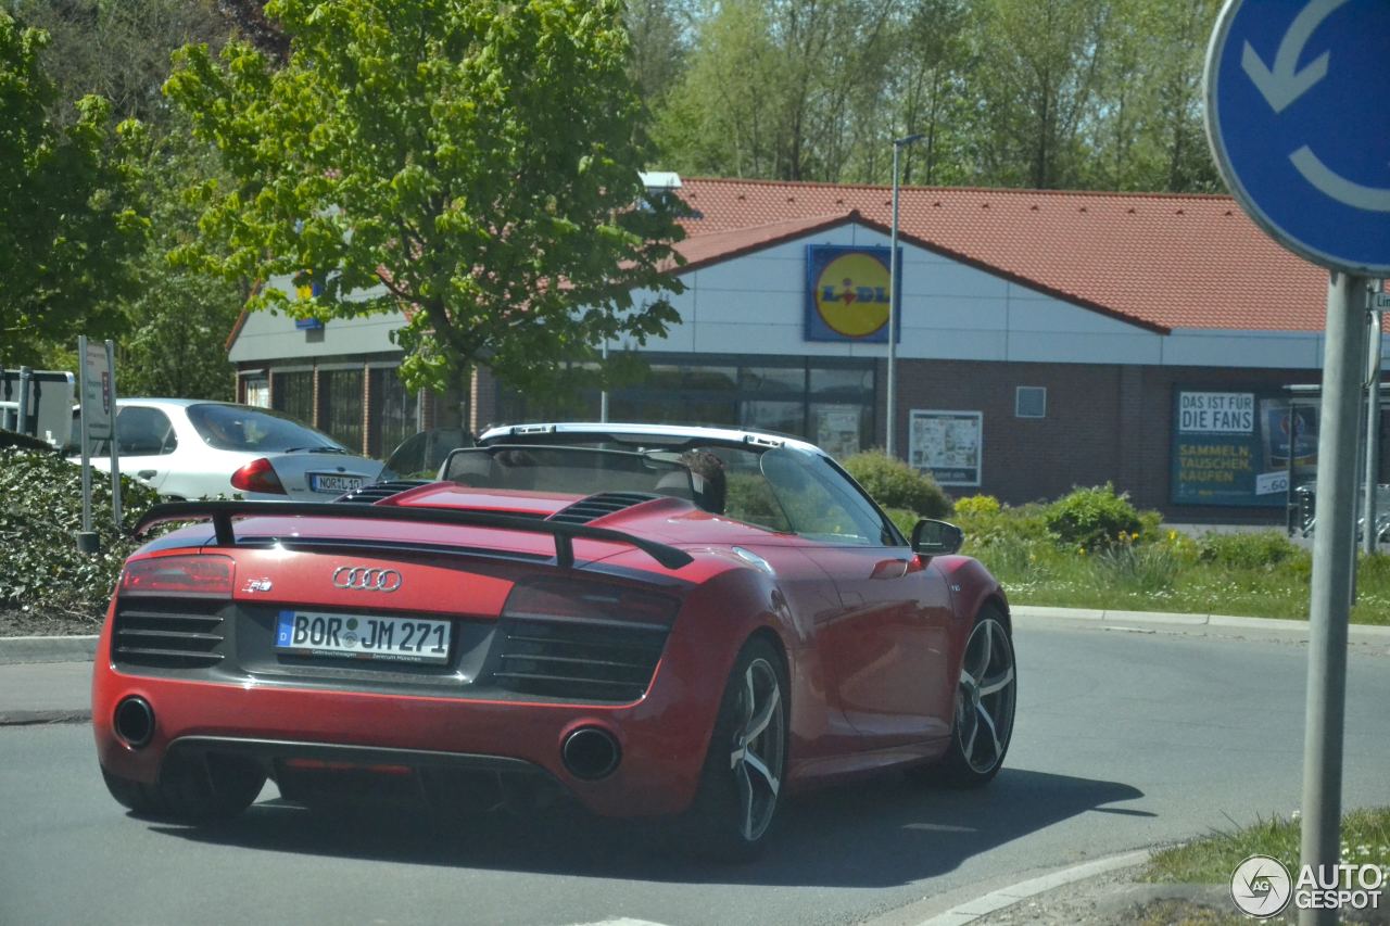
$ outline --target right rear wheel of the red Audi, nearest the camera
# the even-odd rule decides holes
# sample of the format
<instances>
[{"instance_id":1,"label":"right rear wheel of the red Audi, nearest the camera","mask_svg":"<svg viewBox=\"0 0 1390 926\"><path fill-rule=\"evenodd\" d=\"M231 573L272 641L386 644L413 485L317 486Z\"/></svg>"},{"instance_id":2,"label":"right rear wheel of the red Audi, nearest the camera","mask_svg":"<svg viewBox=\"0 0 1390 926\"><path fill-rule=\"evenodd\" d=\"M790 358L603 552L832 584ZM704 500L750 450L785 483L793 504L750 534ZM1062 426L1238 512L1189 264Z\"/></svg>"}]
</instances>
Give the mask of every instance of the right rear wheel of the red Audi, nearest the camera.
<instances>
[{"instance_id":1,"label":"right rear wheel of the red Audi, nearest the camera","mask_svg":"<svg viewBox=\"0 0 1390 926\"><path fill-rule=\"evenodd\" d=\"M787 767L787 691L777 649L749 640L724 685L699 787L678 827L695 855L738 863L762 852Z\"/></svg>"}]
</instances>

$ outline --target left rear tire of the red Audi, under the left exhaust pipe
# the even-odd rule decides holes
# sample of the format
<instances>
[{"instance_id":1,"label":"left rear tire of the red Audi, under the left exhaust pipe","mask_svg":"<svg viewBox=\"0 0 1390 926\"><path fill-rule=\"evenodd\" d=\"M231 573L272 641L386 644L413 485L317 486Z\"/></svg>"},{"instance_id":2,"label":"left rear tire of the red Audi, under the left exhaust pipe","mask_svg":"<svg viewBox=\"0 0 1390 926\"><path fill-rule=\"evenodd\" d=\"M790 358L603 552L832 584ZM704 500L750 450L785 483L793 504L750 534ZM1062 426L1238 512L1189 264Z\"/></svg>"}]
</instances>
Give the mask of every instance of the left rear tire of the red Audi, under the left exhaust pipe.
<instances>
[{"instance_id":1,"label":"left rear tire of the red Audi, under the left exhaust pipe","mask_svg":"<svg viewBox=\"0 0 1390 926\"><path fill-rule=\"evenodd\" d=\"M101 769L106 788L139 816L165 820L225 820L236 816L265 786L265 772L232 756L168 756L154 784Z\"/></svg>"}]
</instances>

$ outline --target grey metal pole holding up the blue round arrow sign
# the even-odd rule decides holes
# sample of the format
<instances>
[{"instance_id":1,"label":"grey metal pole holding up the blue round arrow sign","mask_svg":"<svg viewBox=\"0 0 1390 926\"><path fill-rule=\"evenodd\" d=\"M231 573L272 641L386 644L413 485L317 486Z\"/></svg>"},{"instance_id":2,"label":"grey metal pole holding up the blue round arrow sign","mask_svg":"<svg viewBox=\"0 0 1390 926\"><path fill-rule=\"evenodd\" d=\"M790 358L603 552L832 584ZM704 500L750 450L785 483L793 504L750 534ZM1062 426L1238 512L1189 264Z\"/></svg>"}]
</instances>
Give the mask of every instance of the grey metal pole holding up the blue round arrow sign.
<instances>
[{"instance_id":1,"label":"grey metal pole holding up the blue round arrow sign","mask_svg":"<svg viewBox=\"0 0 1390 926\"><path fill-rule=\"evenodd\" d=\"M1366 279L1333 273L1327 284L1327 339L1323 345L1322 432L1318 437L1318 523L1312 548L1308 704L1304 724L1304 865L1336 866L1341 858L1343 715L1347 701L1347 620L1355 545L1357 431L1361 364L1366 356ZM1334 909L1304 909L1304 926L1336 923Z\"/></svg>"}]
</instances>

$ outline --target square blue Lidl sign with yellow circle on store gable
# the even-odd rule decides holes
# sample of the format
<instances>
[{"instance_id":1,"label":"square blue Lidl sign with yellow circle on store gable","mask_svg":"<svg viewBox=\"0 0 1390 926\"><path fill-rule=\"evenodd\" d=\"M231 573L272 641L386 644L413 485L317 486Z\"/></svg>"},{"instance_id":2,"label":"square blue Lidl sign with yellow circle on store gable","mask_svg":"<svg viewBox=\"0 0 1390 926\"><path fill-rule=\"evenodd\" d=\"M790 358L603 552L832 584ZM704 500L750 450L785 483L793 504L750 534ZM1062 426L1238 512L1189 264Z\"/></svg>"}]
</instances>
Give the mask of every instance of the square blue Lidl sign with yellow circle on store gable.
<instances>
[{"instance_id":1,"label":"square blue Lidl sign with yellow circle on store gable","mask_svg":"<svg viewBox=\"0 0 1390 926\"><path fill-rule=\"evenodd\" d=\"M806 341L887 343L888 263L887 247L808 246Z\"/></svg>"}]
</instances>

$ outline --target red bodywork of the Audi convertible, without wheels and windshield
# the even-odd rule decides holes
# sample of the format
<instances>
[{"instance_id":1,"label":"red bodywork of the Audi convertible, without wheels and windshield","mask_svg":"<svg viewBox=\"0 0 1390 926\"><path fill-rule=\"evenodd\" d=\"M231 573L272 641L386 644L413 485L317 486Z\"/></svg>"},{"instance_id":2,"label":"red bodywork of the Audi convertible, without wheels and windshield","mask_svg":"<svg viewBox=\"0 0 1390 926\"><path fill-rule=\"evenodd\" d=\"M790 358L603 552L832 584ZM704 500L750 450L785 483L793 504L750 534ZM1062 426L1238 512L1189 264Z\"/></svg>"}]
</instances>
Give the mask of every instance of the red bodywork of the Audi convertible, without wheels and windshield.
<instances>
[{"instance_id":1,"label":"red bodywork of the Audi convertible, without wheels and windshield","mask_svg":"<svg viewBox=\"0 0 1390 926\"><path fill-rule=\"evenodd\" d=\"M557 783L600 815L678 815L751 640L784 663L780 777L795 790L941 756L973 622L986 608L1006 622L980 563L901 535L826 542L666 495L573 527L550 520L591 501L573 492L438 481L382 495L160 514L214 523L147 544L122 573L92 694L110 779L156 784L181 748L250 759L282 790L296 773L438 763ZM277 622L309 633L314 616L332 645L343 622L366 634L374 616L420 619L439 640L428 622L446 622L450 645L431 663L274 647ZM577 730L607 737L588 741L598 759L566 759Z\"/></svg>"}]
</instances>

